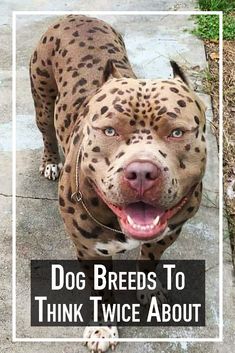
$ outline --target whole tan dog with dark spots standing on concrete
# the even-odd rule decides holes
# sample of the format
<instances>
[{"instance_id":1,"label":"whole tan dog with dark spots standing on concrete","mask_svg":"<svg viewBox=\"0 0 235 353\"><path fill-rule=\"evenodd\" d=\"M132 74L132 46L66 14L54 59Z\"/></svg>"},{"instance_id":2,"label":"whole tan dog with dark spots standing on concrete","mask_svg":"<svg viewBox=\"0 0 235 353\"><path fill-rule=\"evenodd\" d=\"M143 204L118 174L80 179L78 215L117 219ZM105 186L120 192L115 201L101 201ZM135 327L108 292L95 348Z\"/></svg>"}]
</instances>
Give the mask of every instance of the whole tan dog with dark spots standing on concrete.
<instances>
[{"instance_id":1,"label":"whole tan dog with dark spots standing on concrete","mask_svg":"<svg viewBox=\"0 0 235 353\"><path fill-rule=\"evenodd\" d=\"M40 172L59 177L59 205L79 259L111 258L141 245L159 259L197 212L206 163L205 107L182 69L137 79L121 35L70 15L42 36L30 61ZM58 152L62 147L62 168ZM85 330L104 352L115 327Z\"/></svg>"}]
</instances>

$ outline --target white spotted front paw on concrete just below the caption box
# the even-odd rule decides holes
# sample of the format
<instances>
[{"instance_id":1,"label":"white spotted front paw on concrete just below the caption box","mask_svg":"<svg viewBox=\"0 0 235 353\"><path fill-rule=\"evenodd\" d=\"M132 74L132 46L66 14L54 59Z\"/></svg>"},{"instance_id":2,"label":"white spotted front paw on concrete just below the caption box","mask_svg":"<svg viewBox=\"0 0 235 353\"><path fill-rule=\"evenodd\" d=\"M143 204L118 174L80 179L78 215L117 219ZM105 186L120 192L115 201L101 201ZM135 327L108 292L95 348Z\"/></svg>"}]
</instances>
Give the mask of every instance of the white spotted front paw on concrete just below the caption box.
<instances>
[{"instance_id":1,"label":"white spotted front paw on concrete just below the caption box","mask_svg":"<svg viewBox=\"0 0 235 353\"><path fill-rule=\"evenodd\" d=\"M109 348L115 349L118 338L118 330L116 326L87 326L83 333L84 338L92 338L92 341L85 342L91 353L103 353ZM109 338L110 341L96 341L96 338Z\"/></svg>"}]
</instances>

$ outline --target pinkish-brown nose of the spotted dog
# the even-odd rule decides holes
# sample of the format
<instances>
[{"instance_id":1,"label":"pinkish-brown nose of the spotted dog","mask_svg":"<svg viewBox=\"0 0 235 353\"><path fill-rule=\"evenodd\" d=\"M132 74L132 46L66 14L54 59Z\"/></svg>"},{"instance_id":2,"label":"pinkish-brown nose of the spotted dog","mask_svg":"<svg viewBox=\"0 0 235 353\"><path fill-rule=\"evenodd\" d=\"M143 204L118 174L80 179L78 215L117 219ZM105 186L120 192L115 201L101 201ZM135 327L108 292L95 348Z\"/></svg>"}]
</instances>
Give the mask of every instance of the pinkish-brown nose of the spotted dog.
<instances>
[{"instance_id":1,"label":"pinkish-brown nose of the spotted dog","mask_svg":"<svg viewBox=\"0 0 235 353\"><path fill-rule=\"evenodd\" d=\"M124 169L124 178L130 187L140 195L149 190L160 176L160 169L156 164L146 161L134 161Z\"/></svg>"}]
</instances>

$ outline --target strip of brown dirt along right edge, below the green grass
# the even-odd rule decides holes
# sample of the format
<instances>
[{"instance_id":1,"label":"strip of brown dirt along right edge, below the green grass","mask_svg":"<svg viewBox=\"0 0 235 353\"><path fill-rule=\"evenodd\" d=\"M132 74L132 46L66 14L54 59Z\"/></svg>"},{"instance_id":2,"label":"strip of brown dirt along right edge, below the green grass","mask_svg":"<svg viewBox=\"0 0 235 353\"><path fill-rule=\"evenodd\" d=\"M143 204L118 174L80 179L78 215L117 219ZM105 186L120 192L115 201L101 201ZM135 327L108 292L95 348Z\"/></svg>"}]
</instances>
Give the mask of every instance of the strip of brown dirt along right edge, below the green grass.
<instances>
[{"instance_id":1,"label":"strip of brown dirt along right edge, below the green grass","mask_svg":"<svg viewBox=\"0 0 235 353\"><path fill-rule=\"evenodd\" d=\"M213 132L219 135L219 44L205 41L209 70L205 72L204 87L213 100ZM235 42L223 43L223 168L225 216L229 224L233 264L235 265Z\"/></svg>"}]
</instances>

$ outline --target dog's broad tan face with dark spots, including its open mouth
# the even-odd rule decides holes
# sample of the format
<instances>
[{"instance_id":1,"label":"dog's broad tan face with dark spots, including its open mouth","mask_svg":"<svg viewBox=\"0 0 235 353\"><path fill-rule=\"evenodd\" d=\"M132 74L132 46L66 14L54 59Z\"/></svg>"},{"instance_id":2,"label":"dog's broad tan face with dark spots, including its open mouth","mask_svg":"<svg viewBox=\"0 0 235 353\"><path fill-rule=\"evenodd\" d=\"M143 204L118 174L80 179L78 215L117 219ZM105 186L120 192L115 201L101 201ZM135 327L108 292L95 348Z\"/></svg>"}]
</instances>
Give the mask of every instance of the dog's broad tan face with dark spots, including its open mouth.
<instances>
[{"instance_id":1,"label":"dog's broad tan face with dark spots, including its open mouth","mask_svg":"<svg viewBox=\"0 0 235 353\"><path fill-rule=\"evenodd\" d=\"M204 105L179 78L112 78L86 113L81 173L126 235L158 237L203 177Z\"/></svg>"}]
</instances>

